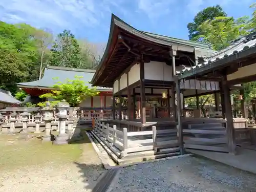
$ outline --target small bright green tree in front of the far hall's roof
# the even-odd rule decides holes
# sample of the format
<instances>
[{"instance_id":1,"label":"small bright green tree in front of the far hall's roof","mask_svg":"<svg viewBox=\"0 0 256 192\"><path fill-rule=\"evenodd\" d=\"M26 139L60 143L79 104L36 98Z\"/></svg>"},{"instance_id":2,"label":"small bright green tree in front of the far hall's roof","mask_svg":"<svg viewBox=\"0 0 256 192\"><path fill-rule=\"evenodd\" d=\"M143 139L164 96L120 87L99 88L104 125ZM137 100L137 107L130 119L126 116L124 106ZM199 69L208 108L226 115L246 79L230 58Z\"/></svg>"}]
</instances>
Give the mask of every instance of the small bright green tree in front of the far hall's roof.
<instances>
[{"instance_id":1,"label":"small bright green tree in front of the far hall's roof","mask_svg":"<svg viewBox=\"0 0 256 192\"><path fill-rule=\"evenodd\" d=\"M71 106L78 106L84 99L99 94L95 88L89 88L85 85L82 77L75 76L74 80L67 79L66 82L57 82L54 84L52 93L46 93L40 98L52 98L52 105L65 99ZM56 78L57 79L57 78ZM44 106L46 102L38 103L39 106Z\"/></svg>"}]
</instances>

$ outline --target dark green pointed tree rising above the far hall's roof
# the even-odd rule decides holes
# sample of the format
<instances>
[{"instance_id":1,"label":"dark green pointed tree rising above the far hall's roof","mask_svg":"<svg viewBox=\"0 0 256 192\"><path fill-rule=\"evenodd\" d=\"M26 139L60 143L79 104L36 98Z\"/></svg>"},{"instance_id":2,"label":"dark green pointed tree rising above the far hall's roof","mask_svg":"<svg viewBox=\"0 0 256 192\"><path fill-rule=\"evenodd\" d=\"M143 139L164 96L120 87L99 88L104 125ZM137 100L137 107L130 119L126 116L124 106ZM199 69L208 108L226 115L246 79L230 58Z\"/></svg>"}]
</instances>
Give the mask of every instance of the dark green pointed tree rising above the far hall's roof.
<instances>
[{"instance_id":1,"label":"dark green pointed tree rising above the far hall's roof","mask_svg":"<svg viewBox=\"0 0 256 192\"><path fill-rule=\"evenodd\" d=\"M59 33L51 49L51 66L81 68L81 49L75 36L68 30Z\"/></svg>"}]
</instances>

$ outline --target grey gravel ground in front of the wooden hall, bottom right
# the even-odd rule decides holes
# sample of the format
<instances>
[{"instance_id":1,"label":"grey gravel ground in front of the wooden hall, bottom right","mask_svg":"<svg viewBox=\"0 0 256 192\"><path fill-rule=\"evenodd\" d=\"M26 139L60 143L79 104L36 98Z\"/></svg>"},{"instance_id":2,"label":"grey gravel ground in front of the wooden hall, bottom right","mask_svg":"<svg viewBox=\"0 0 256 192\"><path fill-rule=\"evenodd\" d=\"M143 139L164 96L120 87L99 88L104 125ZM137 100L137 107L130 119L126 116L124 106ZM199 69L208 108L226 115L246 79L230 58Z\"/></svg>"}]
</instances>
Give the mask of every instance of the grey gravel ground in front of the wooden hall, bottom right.
<instances>
[{"instance_id":1,"label":"grey gravel ground in front of the wooden hall, bottom right","mask_svg":"<svg viewBox=\"0 0 256 192\"><path fill-rule=\"evenodd\" d=\"M109 192L123 191L254 192L256 176L214 161L189 156L122 168Z\"/></svg>"}]
</instances>

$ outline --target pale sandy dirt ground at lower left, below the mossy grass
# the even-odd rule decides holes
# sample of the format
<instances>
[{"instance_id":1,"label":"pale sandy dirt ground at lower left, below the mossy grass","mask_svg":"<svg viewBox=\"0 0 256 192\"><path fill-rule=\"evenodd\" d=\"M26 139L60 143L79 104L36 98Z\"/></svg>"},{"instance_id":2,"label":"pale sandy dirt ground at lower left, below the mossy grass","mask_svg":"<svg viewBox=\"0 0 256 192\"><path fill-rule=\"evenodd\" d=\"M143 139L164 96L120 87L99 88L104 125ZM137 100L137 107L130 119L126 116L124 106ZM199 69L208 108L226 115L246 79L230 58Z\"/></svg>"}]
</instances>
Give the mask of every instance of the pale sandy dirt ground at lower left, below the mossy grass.
<instances>
[{"instance_id":1,"label":"pale sandy dirt ground at lower left, below the mossy grass","mask_svg":"<svg viewBox=\"0 0 256 192\"><path fill-rule=\"evenodd\" d=\"M27 165L25 163L19 164L20 160L17 156L17 167L0 166L0 192L91 191L105 170L102 168L101 161L91 143L80 144L79 147L83 151L82 155L80 154L79 159L72 161L66 158L66 156L72 154L72 148L68 148L69 152L66 152L66 150L65 154L61 154L62 161L55 160L58 158L54 158L54 156L60 155L55 151L53 151L54 153L46 152L46 156L53 156L53 158L46 158L52 159L52 162L44 159L44 163L40 161L38 165L32 162L33 160L39 162L38 159L33 157L31 157L31 164L33 165L29 165L29 162ZM43 153L40 154L41 158L43 158L44 152L40 153ZM27 157L26 160L28 161ZM5 161L8 161L8 159ZM12 160L12 163L15 164L14 160ZM3 164L8 165L8 162L3 161Z\"/></svg>"}]
</instances>

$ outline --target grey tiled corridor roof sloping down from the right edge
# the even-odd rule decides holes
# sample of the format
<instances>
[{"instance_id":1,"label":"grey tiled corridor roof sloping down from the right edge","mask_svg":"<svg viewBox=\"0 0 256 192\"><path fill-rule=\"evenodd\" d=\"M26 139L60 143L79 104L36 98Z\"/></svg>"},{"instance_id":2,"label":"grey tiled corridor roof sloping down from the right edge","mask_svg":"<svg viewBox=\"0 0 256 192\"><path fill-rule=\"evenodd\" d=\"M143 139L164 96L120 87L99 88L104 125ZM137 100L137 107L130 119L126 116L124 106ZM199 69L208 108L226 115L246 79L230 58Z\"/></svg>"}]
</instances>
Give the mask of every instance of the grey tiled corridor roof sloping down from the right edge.
<instances>
[{"instance_id":1,"label":"grey tiled corridor roof sloping down from the right edge","mask_svg":"<svg viewBox=\"0 0 256 192\"><path fill-rule=\"evenodd\" d=\"M178 78L182 79L196 74L199 71L202 72L203 70L208 70L211 67L215 67L217 62L220 62L225 58L231 57L233 55L242 53L243 51L249 50L251 48L256 48L256 33L251 33L235 40L230 46L221 51L217 51L205 57L199 57L198 65L183 69L182 72L178 74Z\"/></svg>"}]
</instances>

